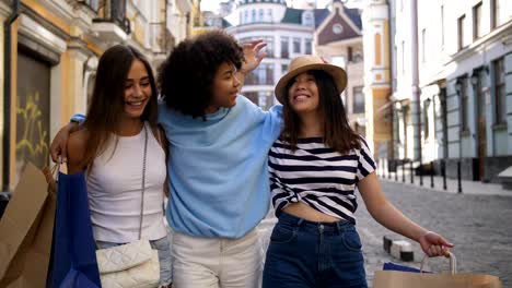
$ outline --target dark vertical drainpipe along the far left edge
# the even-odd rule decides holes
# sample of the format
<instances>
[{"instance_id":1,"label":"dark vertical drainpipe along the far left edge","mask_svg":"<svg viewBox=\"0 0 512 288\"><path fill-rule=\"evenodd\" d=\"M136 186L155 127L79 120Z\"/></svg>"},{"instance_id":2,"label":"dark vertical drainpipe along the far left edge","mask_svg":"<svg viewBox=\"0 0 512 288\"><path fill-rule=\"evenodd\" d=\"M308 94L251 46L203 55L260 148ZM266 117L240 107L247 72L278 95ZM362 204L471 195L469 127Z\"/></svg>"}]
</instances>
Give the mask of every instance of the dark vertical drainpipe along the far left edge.
<instances>
[{"instance_id":1,"label":"dark vertical drainpipe along the far left edge","mask_svg":"<svg viewBox=\"0 0 512 288\"><path fill-rule=\"evenodd\" d=\"M12 12L9 17L3 22L3 71L4 71L4 83L3 83L3 176L2 176L2 191L9 191L9 179L10 179L10 140L11 140L11 26L14 21L20 16L20 0L12 1Z\"/></svg>"}]
</instances>

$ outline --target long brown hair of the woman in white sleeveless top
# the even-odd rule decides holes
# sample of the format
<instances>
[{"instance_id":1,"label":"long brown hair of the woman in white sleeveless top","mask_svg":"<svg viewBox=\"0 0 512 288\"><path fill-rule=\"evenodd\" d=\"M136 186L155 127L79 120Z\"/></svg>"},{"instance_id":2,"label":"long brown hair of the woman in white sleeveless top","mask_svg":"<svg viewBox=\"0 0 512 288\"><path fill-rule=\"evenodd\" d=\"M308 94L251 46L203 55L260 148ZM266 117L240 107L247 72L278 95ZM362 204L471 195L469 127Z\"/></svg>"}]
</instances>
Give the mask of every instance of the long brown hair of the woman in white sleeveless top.
<instances>
[{"instance_id":1,"label":"long brown hair of the woman in white sleeveless top","mask_svg":"<svg viewBox=\"0 0 512 288\"><path fill-rule=\"evenodd\" d=\"M125 106L125 82L135 60L144 64L152 93L140 119L148 121L151 128L156 127L156 85L150 63L142 53L131 46L116 45L110 47L100 58L88 118L84 122L89 134L83 157L84 166L90 166L94 158L105 151L106 144L113 140L118 130Z\"/></svg>"}]
</instances>

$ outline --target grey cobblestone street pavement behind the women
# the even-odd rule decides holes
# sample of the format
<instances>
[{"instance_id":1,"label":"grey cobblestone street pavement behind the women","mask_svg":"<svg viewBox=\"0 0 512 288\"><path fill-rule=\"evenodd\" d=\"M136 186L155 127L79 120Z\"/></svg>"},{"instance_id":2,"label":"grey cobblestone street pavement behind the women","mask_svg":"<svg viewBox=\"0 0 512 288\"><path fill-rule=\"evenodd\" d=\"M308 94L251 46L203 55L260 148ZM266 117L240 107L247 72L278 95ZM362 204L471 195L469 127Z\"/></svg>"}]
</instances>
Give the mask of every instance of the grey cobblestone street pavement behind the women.
<instances>
[{"instance_id":1,"label":"grey cobblestone street pavement behind the women","mask_svg":"<svg viewBox=\"0 0 512 288\"><path fill-rule=\"evenodd\" d=\"M492 274L501 278L503 287L512 287L512 196L474 195L437 192L382 181L387 197L405 215L427 229L434 230L455 244L459 273ZM396 236L379 225L366 212L359 197L356 213L365 257L369 286L375 271L385 262L419 267L422 257L419 244L414 243L415 262L404 263L383 250L384 235ZM258 227L264 247L268 244L276 219L269 217ZM432 259L428 268L447 271L447 261Z\"/></svg>"}]
</instances>

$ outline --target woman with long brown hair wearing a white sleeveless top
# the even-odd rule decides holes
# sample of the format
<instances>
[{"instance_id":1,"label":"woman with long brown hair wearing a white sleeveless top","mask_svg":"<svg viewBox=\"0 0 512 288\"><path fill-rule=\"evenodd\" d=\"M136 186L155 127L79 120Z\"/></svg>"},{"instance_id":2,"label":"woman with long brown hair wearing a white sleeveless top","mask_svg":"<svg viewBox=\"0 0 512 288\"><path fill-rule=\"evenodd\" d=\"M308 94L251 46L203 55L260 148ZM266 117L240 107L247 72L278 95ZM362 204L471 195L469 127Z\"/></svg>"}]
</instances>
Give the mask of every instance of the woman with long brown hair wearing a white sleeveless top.
<instances>
[{"instance_id":1,"label":"woman with long brown hair wearing a white sleeveless top","mask_svg":"<svg viewBox=\"0 0 512 288\"><path fill-rule=\"evenodd\" d=\"M88 118L69 136L67 165L69 173L86 171L96 245L150 240L159 252L160 286L166 287L172 263L163 214L166 165L164 137L156 125L156 95L151 67L139 51L126 45L106 50Z\"/></svg>"}]
</instances>

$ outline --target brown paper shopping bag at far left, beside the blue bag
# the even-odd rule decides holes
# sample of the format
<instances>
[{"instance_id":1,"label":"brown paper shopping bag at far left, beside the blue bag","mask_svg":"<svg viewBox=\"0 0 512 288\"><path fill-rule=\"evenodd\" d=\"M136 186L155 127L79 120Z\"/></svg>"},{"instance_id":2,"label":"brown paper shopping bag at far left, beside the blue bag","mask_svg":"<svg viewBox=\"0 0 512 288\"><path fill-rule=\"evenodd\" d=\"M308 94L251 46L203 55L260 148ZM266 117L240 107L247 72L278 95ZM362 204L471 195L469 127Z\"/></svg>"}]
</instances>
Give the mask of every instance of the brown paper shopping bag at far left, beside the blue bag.
<instances>
[{"instance_id":1,"label":"brown paper shopping bag at far left, beside the blue bag","mask_svg":"<svg viewBox=\"0 0 512 288\"><path fill-rule=\"evenodd\" d=\"M0 220L0 287L45 287L56 195L27 164Z\"/></svg>"}]
</instances>

